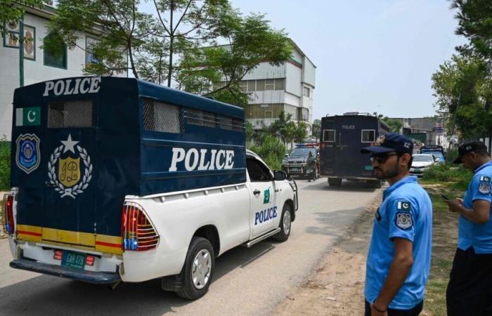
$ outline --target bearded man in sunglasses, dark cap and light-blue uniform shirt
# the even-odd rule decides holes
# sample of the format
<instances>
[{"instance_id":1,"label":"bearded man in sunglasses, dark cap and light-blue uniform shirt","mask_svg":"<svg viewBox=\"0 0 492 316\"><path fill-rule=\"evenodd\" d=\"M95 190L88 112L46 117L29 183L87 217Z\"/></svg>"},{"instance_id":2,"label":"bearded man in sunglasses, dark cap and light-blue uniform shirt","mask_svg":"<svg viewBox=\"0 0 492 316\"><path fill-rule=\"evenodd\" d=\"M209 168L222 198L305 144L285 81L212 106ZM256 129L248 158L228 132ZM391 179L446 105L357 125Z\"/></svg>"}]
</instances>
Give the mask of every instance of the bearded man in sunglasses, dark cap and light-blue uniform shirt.
<instances>
[{"instance_id":1,"label":"bearded man in sunglasses, dark cap and light-blue uniform shirt","mask_svg":"<svg viewBox=\"0 0 492 316\"><path fill-rule=\"evenodd\" d=\"M375 214L365 272L365 316L419 315L429 276L432 203L410 176L413 141L396 133L377 138L371 153L375 177L386 179Z\"/></svg>"}]
</instances>

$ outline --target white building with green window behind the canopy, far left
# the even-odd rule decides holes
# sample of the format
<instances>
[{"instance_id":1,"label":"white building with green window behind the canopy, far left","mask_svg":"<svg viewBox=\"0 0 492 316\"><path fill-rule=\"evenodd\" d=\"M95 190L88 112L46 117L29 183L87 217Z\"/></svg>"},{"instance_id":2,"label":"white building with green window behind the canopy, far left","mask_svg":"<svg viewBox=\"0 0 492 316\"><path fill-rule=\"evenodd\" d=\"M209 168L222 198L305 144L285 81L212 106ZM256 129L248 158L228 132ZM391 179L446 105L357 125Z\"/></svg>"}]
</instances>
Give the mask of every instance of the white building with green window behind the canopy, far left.
<instances>
[{"instance_id":1,"label":"white building with green window behind the canopy, far left","mask_svg":"<svg viewBox=\"0 0 492 316\"><path fill-rule=\"evenodd\" d=\"M48 34L47 23L56 14L52 6L26 8L24 15L24 85L50 79L84 75L84 69L96 62L91 53L91 44L98 40L96 32L79 34L77 46L60 47L57 53L42 48ZM10 140L12 130L12 102L15 88L20 86L19 32L20 23L6 25L7 34L0 44L0 139ZM126 76L126 74L125 74Z\"/></svg>"}]
</instances>

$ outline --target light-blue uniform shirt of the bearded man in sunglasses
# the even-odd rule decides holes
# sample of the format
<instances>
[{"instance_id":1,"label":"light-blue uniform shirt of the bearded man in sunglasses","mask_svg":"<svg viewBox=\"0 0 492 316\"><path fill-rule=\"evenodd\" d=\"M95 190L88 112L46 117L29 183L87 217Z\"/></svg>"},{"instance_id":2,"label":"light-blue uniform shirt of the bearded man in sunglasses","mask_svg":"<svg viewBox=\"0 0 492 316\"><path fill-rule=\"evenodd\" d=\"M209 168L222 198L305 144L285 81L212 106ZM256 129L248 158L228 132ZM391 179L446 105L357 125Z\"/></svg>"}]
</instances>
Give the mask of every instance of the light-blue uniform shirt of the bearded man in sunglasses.
<instances>
[{"instance_id":1,"label":"light-blue uniform shirt of the bearded man in sunglasses","mask_svg":"<svg viewBox=\"0 0 492 316\"><path fill-rule=\"evenodd\" d=\"M413 265L389 308L413 308L424 298L429 277L432 245L432 203L429 195L408 176L383 192L375 214L365 272L365 299L373 303L380 294L393 261L393 238L413 242Z\"/></svg>"}]
</instances>

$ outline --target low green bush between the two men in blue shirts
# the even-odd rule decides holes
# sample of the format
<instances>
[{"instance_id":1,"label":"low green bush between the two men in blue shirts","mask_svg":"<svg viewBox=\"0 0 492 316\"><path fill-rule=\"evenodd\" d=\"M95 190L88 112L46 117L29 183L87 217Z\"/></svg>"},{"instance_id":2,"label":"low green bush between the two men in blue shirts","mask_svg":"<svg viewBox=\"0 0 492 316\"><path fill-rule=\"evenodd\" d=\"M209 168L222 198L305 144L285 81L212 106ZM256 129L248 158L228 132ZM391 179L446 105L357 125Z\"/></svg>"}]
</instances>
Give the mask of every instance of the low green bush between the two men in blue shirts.
<instances>
[{"instance_id":1,"label":"low green bush between the two men in blue shirts","mask_svg":"<svg viewBox=\"0 0 492 316\"><path fill-rule=\"evenodd\" d=\"M462 164L434 164L426 169L422 175L425 180L439 182L454 182L456 187L466 188L473 174L463 168Z\"/></svg>"}]
</instances>

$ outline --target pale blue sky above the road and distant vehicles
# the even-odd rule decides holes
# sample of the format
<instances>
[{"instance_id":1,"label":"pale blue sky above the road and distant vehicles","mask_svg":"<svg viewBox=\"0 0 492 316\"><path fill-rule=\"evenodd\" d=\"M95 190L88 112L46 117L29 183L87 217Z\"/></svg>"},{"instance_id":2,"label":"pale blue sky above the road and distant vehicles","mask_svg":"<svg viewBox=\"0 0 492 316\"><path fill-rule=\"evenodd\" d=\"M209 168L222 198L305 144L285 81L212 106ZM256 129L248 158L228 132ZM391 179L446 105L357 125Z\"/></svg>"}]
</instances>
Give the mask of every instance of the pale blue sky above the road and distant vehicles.
<instances>
[{"instance_id":1,"label":"pale blue sky above the road and distant vehicles","mask_svg":"<svg viewBox=\"0 0 492 316\"><path fill-rule=\"evenodd\" d=\"M431 76L465 44L447 0L231 0L265 13L316 65L313 119L435 114Z\"/></svg>"}]
</instances>

